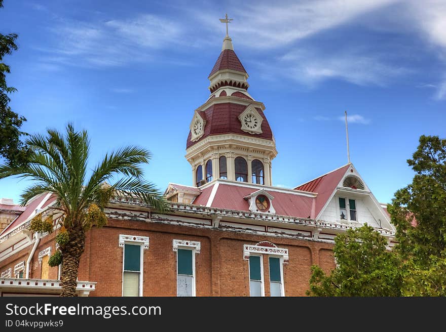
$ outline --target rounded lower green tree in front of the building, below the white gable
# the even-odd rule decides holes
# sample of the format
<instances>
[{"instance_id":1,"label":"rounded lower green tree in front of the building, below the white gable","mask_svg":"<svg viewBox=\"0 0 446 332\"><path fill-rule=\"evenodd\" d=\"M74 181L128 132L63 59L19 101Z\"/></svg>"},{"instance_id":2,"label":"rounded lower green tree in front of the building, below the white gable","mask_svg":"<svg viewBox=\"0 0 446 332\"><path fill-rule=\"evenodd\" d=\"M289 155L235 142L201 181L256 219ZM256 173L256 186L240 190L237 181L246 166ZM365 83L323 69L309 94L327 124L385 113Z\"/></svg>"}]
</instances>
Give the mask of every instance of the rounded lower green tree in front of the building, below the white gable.
<instances>
[{"instance_id":1,"label":"rounded lower green tree in front of the building, below the white gable","mask_svg":"<svg viewBox=\"0 0 446 332\"><path fill-rule=\"evenodd\" d=\"M386 239L373 227L349 229L334 238L337 267L329 275L312 266L312 296L400 296L400 261L386 248Z\"/></svg>"}]
</instances>

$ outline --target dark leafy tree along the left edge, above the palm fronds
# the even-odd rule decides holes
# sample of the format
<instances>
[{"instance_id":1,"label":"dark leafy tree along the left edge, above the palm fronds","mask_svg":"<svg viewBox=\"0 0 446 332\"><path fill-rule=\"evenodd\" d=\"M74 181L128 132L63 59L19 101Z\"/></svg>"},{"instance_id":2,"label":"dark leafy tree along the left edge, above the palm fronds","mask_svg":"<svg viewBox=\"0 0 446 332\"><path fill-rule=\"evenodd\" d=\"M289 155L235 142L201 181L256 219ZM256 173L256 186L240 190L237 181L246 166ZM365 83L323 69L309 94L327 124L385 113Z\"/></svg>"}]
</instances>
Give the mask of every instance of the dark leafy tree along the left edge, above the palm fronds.
<instances>
[{"instance_id":1,"label":"dark leafy tree along the left edge, above the palm fronds","mask_svg":"<svg viewBox=\"0 0 446 332\"><path fill-rule=\"evenodd\" d=\"M3 0L0 0L0 8L3 7ZM15 40L17 34L7 35L0 33L0 156L6 158L12 165L23 164L27 160L29 150L20 140L25 133L20 131L23 121L26 119L13 112L9 107L9 94L16 91L15 88L8 87L6 74L10 72L10 67L3 63L3 57L17 50Z\"/></svg>"}]
</instances>

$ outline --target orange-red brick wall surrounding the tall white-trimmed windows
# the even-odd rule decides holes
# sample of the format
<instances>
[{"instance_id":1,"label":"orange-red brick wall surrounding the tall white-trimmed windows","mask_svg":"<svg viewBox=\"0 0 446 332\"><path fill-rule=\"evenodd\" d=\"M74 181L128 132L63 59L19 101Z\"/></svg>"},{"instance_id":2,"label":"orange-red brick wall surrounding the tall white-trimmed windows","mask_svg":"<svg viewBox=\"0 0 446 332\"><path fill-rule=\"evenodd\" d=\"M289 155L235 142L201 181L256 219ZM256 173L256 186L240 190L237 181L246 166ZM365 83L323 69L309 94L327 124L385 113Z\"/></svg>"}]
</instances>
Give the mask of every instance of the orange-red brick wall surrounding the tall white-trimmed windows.
<instances>
[{"instance_id":1,"label":"orange-red brick wall surrounding the tall white-trimmed windows","mask_svg":"<svg viewBox=\"0 0 446 332\"><path fill-rule=\"evenodd\" d=\"M269 237L216 229L203 229L154 222L109 220L102 229L93 228L86 235L86 247L80 261L78 280L96 281L90 296L121 296L123 248L119 235L141 235L150 238L143 250L143 295L176 296L176 252L172 240L201 242L201 253L195 254L197 296L249 296L249 266L243 259L243 244L270 241L287 248L289 263L283 265L285 295L305 296L309 287L312 264L325 271L334 268L332 245L309 240ZM54 235L41 239L31 262L31 278L40 278L38 254L51 246ZM0 262L0 271L28 258L32 245ZM268 255L263 255L265 295L270 295ZM50 267L49 278L57 279L57 267Z\"/></svg>"}]
</instances>

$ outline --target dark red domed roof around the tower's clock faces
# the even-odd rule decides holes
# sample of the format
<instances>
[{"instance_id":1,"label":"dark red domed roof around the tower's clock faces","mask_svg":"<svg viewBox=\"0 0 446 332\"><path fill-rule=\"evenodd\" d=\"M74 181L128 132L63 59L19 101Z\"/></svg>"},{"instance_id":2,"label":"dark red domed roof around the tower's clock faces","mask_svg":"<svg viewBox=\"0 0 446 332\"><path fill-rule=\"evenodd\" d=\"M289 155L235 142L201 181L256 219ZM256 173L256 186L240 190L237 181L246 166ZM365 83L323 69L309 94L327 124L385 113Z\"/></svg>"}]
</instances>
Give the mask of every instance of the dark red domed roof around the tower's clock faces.
<instances>
[{"instance_id":1,"label":"dark red domed roof around the tower's clock faces","mask_svg":"<svg viewBox=\"0 0 446 332\"><path fill-rule=\"evenodd\" d=\"M186 148L191 147L195 143L200 142L202 139L210 135L227 133L261 137L272 140L273 133L271 132L271 128L267 118L265 117L265 114L260 108L256 108L256 110L263 117L262 134L249 134L241 130L241 123L238 119L238 116L245 110L245 108L246 105L235 103L221 103L210 106L204 112L199 111L200 116L202 116L207 121L204 127L204 134L198 141L192 142L192 133L189 132Z\"/></svg>"}]
</instances>

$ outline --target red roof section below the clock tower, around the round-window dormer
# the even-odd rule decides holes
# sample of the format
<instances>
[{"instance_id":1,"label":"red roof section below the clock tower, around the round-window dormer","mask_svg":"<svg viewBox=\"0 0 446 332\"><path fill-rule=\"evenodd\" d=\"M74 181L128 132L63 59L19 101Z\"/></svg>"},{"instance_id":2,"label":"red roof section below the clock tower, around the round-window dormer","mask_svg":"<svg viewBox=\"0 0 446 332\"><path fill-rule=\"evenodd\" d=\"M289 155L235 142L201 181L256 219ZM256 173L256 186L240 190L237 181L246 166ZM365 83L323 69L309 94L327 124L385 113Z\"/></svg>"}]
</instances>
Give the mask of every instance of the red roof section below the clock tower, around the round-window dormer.
<instances>
[{"instance_id":1,"label":"red roof section below the clock tower, around the round-window dormer","mask_svg":"<svg viewBox=\"0 0 446 332\"><path fill-rule=\"evenodd\" d=\"M193 204L206 205L214 186L203 189L202 194L195 199ZM269 194L274 196L272 204L277 215L296 218L309 218L311 216L312 203L315 198L275 191L273 189L267 190L268 187L265 187L265 189ZM258 188L240 186L237 185L237 183L219 183L215 196L212 200L211 207L228 210L249 211L248 200L244 199L243 197L255 191L258 191Z\"/></svg>"}]
</instances>

